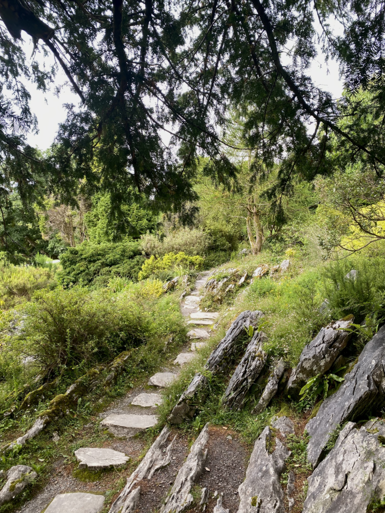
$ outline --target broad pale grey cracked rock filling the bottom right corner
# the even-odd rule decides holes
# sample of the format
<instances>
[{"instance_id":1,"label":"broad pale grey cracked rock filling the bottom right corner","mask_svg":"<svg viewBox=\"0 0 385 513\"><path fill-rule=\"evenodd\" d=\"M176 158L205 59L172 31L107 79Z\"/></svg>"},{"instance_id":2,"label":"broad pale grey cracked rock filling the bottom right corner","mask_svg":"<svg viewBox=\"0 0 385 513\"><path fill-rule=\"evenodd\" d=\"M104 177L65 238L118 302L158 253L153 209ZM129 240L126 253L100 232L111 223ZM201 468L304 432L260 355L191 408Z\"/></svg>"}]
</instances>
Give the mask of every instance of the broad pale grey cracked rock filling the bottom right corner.
<instances>
[{"instance_id":1,"label":"broad pale grey cracked rock filling the bottom right corner","mask_svg":"<svg viewBox=\"0 0 385 513\"><path fill-rule=\"evenodd\" d=\"M335 447L307 479L303 513L363 513L385 489L385 424L341 431Z\"/></svg>"}]
</instances>

